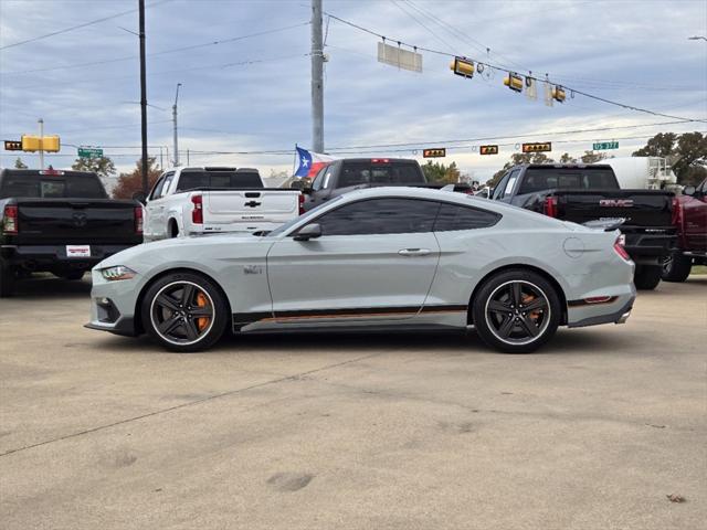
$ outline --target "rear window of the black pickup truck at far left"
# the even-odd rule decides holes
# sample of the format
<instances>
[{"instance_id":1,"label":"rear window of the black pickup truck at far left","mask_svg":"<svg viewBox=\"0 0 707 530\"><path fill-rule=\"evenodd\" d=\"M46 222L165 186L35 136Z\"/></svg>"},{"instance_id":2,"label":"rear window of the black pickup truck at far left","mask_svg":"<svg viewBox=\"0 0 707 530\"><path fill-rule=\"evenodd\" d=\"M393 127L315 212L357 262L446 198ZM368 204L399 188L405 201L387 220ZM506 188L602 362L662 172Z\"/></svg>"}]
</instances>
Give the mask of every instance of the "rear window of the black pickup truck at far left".
<instances>
[{"instance_id":1,"label":"rear window of the black pickup truck at far left","mask_svg":"<svg viewBox=\"0 0 707 530\"><path fill-rule=\"evenodd\" d=\"M8 173L2 179L0 199L106 199L103 184L95 174Z\"/></svg>"}]
</instances>

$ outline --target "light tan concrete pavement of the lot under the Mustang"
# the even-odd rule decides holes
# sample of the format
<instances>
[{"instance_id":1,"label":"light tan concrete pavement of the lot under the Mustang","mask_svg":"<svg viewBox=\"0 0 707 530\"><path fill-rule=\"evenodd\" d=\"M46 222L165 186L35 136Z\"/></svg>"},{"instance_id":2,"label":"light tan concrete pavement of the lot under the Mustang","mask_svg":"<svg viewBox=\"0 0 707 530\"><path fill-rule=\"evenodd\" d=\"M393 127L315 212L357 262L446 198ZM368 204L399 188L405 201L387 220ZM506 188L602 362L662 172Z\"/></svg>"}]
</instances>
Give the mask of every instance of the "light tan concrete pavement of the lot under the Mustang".
<instances>
[{"instance_id":1,"label":"light tan concrete pavement of the lot under the Mustang","mask_svg":"<svg viewBox=\"0 0 707 530\"><path fill-rule=\"evenodd\" d=\"M530 356L473 333L166 353L84 329L88 290L0 301L3 530L705 528L707 276Z\"/></svg>"}]
</instances>

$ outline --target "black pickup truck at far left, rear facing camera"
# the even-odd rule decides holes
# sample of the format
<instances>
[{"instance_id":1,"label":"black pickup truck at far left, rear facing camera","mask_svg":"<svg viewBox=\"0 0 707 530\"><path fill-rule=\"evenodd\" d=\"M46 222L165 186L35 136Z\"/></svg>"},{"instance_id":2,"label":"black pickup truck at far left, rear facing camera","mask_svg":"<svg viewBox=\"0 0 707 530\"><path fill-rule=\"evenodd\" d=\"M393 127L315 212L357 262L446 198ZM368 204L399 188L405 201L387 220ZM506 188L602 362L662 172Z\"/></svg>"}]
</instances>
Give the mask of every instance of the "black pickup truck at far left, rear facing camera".
<instances>
[{"instance_id":1,"label":"black pickup truck at far left, rear facing camera","mask_svg":"<svg viewBox=\"0 0 707 530\"><path fill-rule=\"evenodd\" d=\"M0 171L0 297L32 272L80 279L141 242L143 206L108 199L95 173Z\"/></svg>"}]
</instances>

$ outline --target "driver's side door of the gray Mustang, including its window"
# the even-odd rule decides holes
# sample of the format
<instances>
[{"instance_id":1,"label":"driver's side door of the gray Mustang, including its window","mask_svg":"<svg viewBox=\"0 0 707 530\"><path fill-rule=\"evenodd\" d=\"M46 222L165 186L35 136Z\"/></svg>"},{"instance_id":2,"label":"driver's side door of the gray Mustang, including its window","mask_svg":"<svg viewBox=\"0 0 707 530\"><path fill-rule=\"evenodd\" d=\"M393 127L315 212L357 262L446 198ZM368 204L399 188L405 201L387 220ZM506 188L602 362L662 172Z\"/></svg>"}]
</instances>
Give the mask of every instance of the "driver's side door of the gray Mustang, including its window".
<instances>
[{"instance_id":1,"label":"driver's side door of the gray Mustang, including its window","mask_svg":"<svg viewBox=\"0 0 707 530\"><path fill-rule=\"evenodd\" d=\"M277 241L267 255L275 319L404 319L430 290L440 248L440 204L382 198L344 204L310 221L321 236Z\"/></svg>"}]
</instances>

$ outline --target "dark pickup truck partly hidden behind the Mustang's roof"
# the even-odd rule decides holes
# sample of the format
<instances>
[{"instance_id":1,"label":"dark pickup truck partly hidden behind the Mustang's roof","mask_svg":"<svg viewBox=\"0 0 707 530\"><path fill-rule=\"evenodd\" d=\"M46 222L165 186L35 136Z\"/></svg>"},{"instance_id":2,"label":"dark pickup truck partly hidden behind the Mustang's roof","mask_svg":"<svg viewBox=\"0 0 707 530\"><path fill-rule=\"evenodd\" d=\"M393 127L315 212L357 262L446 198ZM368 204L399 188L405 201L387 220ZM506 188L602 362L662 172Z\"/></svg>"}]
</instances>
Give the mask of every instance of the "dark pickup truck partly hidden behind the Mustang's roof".
<instances>
[{"instance_id":1,"label":"dark pickup truck partly hidden behind the Mustang's roof","mask_svg":"<svg viewBox=\"0 0 707 530\"><path fill-rule=\"evenodd\" d=\"M303 209L312 210L329 199L352 190L381 186L440 189L447 184L428 182L416 160L345 158L325 166L312 181L312 187L302 190L305 194ZM465 183L457 183L454 184L454 191L472 193L472 188Z\"/></svg>"}]
</instances>

